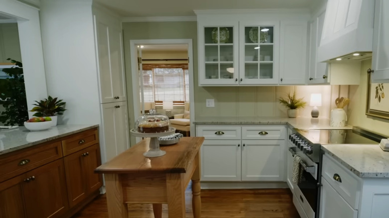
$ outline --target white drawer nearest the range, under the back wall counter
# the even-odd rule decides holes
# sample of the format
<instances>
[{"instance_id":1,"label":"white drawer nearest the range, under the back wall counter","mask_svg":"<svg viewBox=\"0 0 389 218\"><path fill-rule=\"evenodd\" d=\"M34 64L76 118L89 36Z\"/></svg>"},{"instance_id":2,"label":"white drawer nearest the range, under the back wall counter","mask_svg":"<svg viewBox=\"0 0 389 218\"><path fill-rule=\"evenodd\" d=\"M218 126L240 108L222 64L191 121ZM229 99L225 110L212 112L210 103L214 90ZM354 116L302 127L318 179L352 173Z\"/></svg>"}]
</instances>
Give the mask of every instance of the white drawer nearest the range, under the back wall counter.
<instances>
[{"instance_id":1,"label":"white drawer nearest the range, under the back wall counter","mask_svg":"<svg viewBox=\"0 0 389 218\"><path fill-rule=\"evenodd\" d=\"M253 125L242 126L242 139L285 139L285 126Z\"/></svg>"}]
</instances>

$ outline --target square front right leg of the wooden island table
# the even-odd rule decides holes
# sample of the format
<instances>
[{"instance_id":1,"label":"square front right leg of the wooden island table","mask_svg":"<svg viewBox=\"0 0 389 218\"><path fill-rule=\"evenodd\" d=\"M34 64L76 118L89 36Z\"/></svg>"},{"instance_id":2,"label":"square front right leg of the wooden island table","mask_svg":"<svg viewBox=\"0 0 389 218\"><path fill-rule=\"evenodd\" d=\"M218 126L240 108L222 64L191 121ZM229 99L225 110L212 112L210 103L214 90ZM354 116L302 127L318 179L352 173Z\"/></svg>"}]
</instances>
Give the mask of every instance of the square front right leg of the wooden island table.
<instances>
[{"instance_id":1,"label":"square front right leg of the wooden island table","mask_svg":"<svg viewBox=\"0 0 389 218\"><path fill-rule=\"evenodd\" d=\"M183 173L166 174L169 218L185 218L184 186Z\"/></svg>"}]
</instances>

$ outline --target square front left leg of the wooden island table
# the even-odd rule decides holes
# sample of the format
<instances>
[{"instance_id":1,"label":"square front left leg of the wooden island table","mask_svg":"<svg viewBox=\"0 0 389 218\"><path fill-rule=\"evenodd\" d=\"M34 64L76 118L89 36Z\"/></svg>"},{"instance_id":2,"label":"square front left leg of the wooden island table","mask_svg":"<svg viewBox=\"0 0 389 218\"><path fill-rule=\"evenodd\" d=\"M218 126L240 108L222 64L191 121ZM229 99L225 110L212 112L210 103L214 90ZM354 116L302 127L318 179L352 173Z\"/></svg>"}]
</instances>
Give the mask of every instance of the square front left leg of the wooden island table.
<instances>
[{"instance_id":1,"label":"square front left leg of the wooden island table","mask_svg":"<svg viewBox=\"0 0 389 218\"><path fill-rule=\"evenodd\" d=\"M122 184L118 174L105 174L105 189L109 218L128 218L127 204L123 201Z\"/></svg>"}]
</instances>

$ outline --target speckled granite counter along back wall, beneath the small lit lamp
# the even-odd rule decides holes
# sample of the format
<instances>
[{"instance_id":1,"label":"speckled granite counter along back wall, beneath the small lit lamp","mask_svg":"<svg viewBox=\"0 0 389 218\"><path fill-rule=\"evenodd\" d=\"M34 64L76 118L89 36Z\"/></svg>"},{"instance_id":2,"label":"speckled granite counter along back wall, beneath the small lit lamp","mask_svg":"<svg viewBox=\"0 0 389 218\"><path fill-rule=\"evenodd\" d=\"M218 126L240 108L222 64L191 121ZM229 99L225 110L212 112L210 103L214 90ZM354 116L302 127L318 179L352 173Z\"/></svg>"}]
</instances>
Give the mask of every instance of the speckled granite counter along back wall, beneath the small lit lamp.
<instances>
[{"instance_id":1,"label":"speckled granite counter along back wall, beneath the small lit lamp","mask_svg":"<svg viewBox=\"0 0 389 218\"><path fill-rule=\"evenodd\" d=\"M194 124L289 124L292 128L299 129L352 129L352 126L332 127L328 118L312 118L298 116L296 118L287 117L196 117Z\"/></svg>"}]
</instances>

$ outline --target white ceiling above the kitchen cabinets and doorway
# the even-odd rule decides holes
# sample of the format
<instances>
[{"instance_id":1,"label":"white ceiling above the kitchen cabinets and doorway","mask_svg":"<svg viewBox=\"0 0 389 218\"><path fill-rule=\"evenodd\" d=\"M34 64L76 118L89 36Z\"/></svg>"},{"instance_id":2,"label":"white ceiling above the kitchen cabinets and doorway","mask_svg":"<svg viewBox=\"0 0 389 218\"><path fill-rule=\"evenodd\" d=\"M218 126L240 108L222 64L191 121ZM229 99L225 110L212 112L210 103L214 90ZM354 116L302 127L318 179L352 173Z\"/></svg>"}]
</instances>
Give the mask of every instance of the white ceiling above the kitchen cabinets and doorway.
<instances>
[{"instance_id":1,"label":"white ceiling above the kitchen cabinets and doorway","mask_svg":"<svg viewBox=\"0 0 389 218\"><path fill-rule=\"evenodd\" d=\"M311 8L320 0L95 0L122 17L194 16L193 10Z\"/></svg>"}]
</instances>

